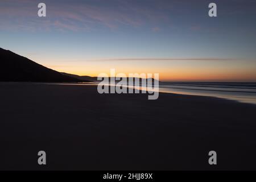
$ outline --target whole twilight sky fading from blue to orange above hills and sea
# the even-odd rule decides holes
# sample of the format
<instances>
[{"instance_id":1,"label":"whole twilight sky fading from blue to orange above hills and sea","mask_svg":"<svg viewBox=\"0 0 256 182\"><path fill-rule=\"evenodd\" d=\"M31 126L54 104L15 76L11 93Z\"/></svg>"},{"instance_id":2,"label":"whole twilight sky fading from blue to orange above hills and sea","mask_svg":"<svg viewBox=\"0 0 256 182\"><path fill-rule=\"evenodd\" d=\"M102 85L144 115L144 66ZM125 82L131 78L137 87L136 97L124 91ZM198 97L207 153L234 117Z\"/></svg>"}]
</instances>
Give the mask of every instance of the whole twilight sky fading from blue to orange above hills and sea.
<instances>
[{"instance_id":1,"label":"whole twilight sky fading from blue to orange above hills and sea","mask_svg":"<svg viewBox=\"0 0 256 182\"><path fill-rule=\"evenodd\" d=\"M76 75L256 81L255 22L254 0L1 0L0 47Z\"/></svg>"}]
</instances>

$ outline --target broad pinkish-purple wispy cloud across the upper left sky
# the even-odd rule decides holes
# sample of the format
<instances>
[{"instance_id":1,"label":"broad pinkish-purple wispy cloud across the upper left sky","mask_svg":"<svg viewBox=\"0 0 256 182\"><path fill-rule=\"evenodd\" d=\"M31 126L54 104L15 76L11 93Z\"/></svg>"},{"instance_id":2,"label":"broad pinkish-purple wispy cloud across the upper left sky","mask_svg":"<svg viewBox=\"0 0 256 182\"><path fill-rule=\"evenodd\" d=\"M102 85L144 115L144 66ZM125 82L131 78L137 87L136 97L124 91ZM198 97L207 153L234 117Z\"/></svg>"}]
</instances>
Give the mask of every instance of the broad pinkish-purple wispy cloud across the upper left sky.
<instances>
[{"instance_id":1,"label":"broad pinkish-purple wispy cloud across the upper left sky","mask_svg":"<svg viewBox=\"0 0 256 182\"><path fill-rule=\"evenodd\" d=\"M110 1L101 6L95 3L67 3L63 1L45 1L47 17L37 16L37 1L11 0L0 2L1 29L24 30L57 29L68 31L92 30L98 26L116 29L120 26L139 27L144 24L157 24L159 19L168 17L158 7L147 6L149 3L128 3L126 1ZM102 2L99 1L99 4ZM111 6L111 5L114 6ZM107 6L108 5L108 6ZM118 8L117 8L118 7ZM154 8L154 9L153 9ZM48 20L48 22L44 22ZM42 23L46 23L42 26ZM156 28L154 29L155 31Z\"/></svg>"}]
</instances>

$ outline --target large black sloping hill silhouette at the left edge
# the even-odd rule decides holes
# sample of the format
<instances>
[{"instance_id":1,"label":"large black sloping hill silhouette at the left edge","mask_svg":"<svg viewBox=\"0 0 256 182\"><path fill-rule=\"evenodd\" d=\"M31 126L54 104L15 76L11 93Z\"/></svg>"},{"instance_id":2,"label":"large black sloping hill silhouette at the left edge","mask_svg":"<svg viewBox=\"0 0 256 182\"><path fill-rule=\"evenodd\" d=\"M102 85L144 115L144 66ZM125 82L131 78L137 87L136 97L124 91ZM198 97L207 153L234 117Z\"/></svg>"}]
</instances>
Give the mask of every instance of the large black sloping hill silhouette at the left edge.
<instances>
[{"instance_id":1,"label":"large black sloping hill silhouette at the left edge","mask_svg":"<svg viewBox=\"0 0 256 182\"><path fill-rule=\"evenodd\" d=\"M14 52L0 48L0 81L80 82Z\"/></svg>"}]
</instances>

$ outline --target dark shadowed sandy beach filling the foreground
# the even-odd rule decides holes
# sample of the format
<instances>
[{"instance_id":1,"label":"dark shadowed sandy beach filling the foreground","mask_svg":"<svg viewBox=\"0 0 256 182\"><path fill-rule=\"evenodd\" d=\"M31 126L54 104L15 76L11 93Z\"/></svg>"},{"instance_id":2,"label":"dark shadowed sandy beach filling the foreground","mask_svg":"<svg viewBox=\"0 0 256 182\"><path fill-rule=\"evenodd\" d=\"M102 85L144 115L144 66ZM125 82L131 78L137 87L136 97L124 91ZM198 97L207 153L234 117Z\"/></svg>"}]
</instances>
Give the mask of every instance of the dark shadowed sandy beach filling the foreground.
<instances>
[{"instance_id":1,"label":"dark shadowed sandy beach filling the foreground","mask_svg":"<svg viewBox=\"0 0 256 182\"><path fill-rule=\"evenodd\" d=\"M0 97L0 169L256 169L255 105L29 83L0 83Z\"/></svg>"}]
</instances>

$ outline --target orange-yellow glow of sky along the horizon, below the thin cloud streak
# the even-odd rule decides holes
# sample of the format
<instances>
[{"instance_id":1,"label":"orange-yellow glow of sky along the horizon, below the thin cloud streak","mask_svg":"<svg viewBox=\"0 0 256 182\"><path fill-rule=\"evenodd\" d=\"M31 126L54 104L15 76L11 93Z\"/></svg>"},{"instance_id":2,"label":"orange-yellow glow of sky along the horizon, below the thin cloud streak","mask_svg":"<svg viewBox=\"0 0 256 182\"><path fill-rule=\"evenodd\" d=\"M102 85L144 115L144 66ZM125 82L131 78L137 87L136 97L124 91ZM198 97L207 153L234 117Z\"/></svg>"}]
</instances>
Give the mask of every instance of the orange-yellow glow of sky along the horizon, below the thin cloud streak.
<instances>
[{"instance_id":1,"label":"orange-yellow glow of sky along the horizon, below the thin cloud streak","mask_svg":"<svg viewBox=\"0 0 256 182\"><path fill-rule=\"evenodd\" d=\"M97 77L100 73L110 75L110 69L115 68L115 73L159 73L160 81L256 81L256 65L254 62L245 64L236 61L166 61L161 63L148 61L147 64L130 62L75 62L60 63L59 65L46 64L45 66L59 72L71 73L79 76Z\"/></svg>"}]
</instances>

